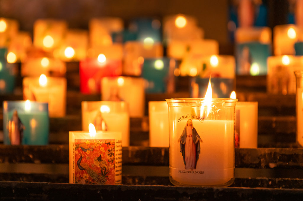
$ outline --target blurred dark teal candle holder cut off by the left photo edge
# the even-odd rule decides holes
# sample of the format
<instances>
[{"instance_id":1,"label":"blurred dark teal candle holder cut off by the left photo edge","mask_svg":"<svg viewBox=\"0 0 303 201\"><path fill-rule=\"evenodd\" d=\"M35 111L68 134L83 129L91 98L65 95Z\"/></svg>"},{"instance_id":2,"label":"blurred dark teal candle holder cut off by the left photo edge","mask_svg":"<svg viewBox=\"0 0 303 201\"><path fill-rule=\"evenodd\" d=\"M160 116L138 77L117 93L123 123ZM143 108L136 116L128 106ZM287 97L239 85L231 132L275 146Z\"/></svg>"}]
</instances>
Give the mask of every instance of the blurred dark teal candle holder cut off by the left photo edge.
<instances>
[{"instance_id":1,"label":"blurred dark teal candle holder cut off by the left photo edge","mask_svg":"<svg viewBox=\"0 0 303 201\"><path fill-rule=\"evenodd\" d=\"M0 48L0 94L13 93L15 87L15 64L6 61L7 49Z\"/></svg>"}]
</instances>

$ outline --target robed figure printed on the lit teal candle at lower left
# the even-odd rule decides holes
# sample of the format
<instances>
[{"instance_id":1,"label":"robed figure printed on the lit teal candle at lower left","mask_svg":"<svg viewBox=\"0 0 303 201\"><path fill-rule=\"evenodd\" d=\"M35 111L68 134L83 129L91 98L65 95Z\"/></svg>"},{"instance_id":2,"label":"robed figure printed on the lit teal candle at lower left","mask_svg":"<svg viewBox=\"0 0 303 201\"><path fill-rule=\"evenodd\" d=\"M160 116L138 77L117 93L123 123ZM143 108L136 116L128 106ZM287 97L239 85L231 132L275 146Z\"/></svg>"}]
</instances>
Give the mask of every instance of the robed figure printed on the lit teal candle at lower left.
<instances>
[{"instance_id":1,"label":"robed figure printed on the lit teal candle at lower left","mask_svg":"<svg viewBox=\"0 0 303 201\"><path fill-rule=\"evenodd\" d=\"M14 110L11 120L8 122L8 137L11 145L21 145L23 138L23 130L25 126L22 124L17 110Z\"/></svg>"}]
</instances>

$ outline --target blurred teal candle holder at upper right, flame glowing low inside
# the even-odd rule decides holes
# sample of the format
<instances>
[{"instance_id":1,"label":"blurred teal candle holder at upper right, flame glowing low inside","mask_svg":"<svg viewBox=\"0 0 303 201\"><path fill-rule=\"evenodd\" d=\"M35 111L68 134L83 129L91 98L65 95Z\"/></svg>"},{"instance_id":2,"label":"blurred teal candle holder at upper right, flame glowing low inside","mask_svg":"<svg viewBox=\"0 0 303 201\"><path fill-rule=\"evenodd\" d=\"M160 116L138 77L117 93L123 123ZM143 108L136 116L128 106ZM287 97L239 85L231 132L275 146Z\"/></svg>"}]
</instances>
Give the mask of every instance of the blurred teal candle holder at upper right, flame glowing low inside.
<instances>
[{"instance_id":1,"label":"blurred teal candle holder at upper right, flame glowing low inside","mask_svg":"<svg viewBox=\"0 0 303 201\"><path fill-rule=\"evenodd\" d=\"M236 44L237 75L267 75L271 45L260 42Z\"/></svg>"}]
</instances>

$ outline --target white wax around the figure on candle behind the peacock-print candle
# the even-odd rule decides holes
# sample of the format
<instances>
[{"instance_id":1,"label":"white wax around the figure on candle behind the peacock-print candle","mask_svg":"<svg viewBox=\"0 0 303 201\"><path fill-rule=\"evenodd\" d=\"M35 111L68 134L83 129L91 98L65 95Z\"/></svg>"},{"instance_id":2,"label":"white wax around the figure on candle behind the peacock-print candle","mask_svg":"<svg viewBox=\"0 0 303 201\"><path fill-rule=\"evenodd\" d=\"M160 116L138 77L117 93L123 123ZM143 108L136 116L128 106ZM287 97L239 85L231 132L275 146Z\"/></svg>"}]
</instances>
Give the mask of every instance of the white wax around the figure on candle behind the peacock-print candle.
<instances>
[{"instance_id":1,"label":"white wax around the figure on candle behind the peacock-print candle","mask_svg":"<svg viewBox=\"0 0 303 201\"><path fill-rule=\"evenodd\" d=\"M88 125L94 124L95 117L100 110L82 111L82 129L88 131ZM122 146L129 146L129 115L127 112L102 113L108 131L117 131L122 133ZM95 125L96 126L96 125Z\"/></svg>"}]
</instances>

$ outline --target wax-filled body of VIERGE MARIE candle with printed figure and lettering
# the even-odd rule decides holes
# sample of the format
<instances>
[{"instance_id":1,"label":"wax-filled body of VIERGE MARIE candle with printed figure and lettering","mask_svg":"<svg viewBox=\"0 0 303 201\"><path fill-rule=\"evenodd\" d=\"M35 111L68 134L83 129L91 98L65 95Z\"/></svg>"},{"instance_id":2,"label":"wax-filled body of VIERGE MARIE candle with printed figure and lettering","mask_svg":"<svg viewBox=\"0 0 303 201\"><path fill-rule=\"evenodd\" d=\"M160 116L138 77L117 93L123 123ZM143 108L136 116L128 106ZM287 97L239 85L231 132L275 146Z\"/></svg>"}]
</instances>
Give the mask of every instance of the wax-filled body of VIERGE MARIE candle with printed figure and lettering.
<instances>
[{"instance_id":1,"label":"wax-filled body of VIERGE MARIE candle with printed figure and lettering","mask_svg":"<svg viewBox=\"0 0 303 201\"><path fill-rule=\"evenodd\" d=\"M234 176L234 121L178 116L171 133L170 174L179 183L216 185ZM181 153L180 153L181 152Z\"/></svg>"}]
</instances>

